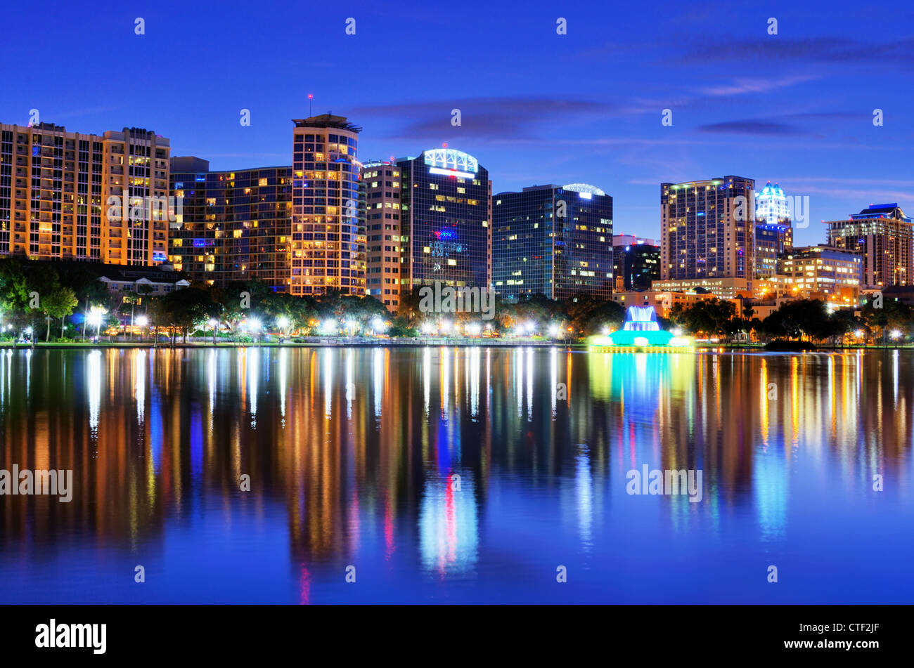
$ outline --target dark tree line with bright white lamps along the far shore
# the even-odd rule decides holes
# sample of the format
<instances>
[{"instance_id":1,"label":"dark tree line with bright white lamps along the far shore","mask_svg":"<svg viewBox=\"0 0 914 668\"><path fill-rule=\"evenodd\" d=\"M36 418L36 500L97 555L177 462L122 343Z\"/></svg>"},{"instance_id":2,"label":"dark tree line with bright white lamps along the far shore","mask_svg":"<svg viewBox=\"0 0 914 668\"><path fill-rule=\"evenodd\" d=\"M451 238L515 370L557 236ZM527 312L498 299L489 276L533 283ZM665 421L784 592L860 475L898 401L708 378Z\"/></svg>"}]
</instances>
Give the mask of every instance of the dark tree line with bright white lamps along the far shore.
<instances>
[{"instance_id":1,"label":"dark tree line with bright white lamps along the far shore","mask_svg":"<svg viewBox=\"0 0 914 668\"><path fill-rule=\"evenodd\" d=\"M475 305L461 299L430 306L432 300L421 297L429 288L414 287L400 295L395 313L375 297L335 290L296 297L253 280L225 287L190 283L162 292L140 283L134 291L130 283L117 290L100 280L105 268L0 260L0 346L197 348L275 346L283 339L290 347L578 348L587 346L588 337L620 329L626 315L611 298L585 294L560 300L526 295L517 302L489 294L485 304L480 298ZM660 329L694 339L696 350L766 350L766 344L771 351L894 349L909 346L914 331L914 307L895 299L883 303L881 293L847 308L790 299L760 319L751 302L738 308L734 300L704 291L688 306L676 302L665 316L656 318Z\"/></svg>"}]
</instances>

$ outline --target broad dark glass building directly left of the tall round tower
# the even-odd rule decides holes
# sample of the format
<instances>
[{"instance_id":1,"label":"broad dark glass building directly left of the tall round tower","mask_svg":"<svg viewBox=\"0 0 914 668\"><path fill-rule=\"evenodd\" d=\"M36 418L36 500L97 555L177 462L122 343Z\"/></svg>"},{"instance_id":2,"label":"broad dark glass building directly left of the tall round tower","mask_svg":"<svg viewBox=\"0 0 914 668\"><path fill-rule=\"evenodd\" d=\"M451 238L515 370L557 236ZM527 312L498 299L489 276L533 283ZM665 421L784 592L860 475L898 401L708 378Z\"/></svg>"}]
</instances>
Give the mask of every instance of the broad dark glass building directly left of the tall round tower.
<instances>
[{"instance_id":1,"label":"broad dark glass building directly left of the tall round tower","mask_svg":"<svg viewBox=\"0 0 914 668\"><path fill-rule=\"evenodd\" d=\"M289 290L292 165L210 172L206 160L175 157L171 183L183 203L169 243L177 271L220 287L258 280Z\"/></svg>"}]
</instances>

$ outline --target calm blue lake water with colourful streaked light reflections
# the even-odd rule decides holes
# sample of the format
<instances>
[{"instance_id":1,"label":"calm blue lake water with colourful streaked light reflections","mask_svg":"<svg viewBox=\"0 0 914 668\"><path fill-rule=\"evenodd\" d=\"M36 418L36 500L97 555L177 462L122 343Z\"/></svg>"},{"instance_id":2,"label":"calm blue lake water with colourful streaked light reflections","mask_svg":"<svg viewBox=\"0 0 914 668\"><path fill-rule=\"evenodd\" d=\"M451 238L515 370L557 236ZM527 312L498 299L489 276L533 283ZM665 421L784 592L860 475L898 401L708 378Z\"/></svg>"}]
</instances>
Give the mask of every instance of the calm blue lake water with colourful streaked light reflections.
<instances>
[{"instance_id":1,"label":"calm blue lake water with colourful streaked light reflections","mask_svg":"<svg viewBox=\"0 0 914 668\"><path fill-rule=\"evenodd\" d=\"M69 503L0 496L0 602L914 602L912 371L0 350L0 469L73 471ZM644 465L700 471L700 501L629 494Z\"/></svg>"}]
</instances>

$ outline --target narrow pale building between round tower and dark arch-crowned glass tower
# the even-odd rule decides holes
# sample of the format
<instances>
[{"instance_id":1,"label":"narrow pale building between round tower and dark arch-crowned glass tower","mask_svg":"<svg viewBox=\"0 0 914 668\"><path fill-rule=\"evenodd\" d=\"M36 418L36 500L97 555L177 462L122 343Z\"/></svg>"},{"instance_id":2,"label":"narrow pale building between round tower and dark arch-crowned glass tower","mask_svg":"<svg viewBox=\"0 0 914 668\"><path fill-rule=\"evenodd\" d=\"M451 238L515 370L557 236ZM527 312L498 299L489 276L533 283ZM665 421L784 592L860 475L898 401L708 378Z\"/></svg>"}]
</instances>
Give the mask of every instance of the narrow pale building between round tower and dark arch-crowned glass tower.
<instances>
[{"instance_id":1,"label":"narrow pale building between round tower and dark arch-crowned glass tower","mask_svg":"<svg viewBox=\"0 0 914 668\"><path fill-rule=\"evenodd\" d=\"M400 278L408 238L401 230L400 168L395 162L362 165L365 191L366 287L390 311L399 308Z\"/></svg>"}]
</instances>

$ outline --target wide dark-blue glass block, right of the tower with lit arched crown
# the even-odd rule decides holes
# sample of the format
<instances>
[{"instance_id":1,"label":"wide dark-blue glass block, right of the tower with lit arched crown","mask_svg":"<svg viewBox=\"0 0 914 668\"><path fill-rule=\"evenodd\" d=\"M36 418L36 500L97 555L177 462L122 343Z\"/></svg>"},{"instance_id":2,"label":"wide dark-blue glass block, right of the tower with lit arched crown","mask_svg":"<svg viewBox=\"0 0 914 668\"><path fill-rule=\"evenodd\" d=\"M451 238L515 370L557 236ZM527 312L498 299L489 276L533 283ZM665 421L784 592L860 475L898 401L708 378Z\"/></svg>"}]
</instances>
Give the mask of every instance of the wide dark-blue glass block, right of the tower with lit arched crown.
<instances>
[{"instance_id":1,"label":"wide dark-blue glass block, right of the tower with lit arched crown","mask_svg":"<svg viewBox=\"0 0 914 668\"><path fill-rule=\"evenodd\" d=\"M494 196L493 278L508 301L612 295L612 197L587 183Z\"/></svg>"}]
</instances>

